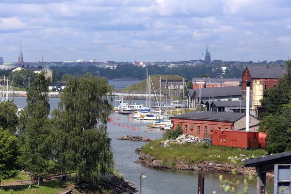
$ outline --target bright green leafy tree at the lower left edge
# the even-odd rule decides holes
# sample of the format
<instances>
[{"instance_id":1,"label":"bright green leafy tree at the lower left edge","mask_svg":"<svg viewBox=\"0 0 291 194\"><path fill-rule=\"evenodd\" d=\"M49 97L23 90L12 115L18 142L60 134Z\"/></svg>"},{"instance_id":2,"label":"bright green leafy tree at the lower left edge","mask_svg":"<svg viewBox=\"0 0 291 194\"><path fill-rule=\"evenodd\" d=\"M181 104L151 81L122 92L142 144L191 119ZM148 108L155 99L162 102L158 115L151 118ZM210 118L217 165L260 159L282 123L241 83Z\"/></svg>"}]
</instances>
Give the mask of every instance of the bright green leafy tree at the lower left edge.
<instances>
[{"instance_id":1,"label":"bright green leafy tree at the lower left edge","mask_svg":"<svg viewBox=\"0 0 291 194\"><path fill-rule=\"evenodd\" d=\"M18 173L19 144L9 131L0 128L0 180L13 178Z\"/></svg>"}]
</instances>

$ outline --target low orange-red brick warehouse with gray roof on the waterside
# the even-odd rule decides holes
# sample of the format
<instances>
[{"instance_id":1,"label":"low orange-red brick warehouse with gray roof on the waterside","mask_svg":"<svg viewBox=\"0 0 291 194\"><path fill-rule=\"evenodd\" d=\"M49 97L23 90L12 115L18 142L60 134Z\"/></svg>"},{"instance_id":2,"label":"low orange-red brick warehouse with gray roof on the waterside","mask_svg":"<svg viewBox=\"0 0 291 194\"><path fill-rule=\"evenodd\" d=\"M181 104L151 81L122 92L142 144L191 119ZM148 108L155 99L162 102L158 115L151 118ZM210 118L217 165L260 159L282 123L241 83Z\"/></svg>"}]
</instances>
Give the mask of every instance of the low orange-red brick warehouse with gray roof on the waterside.
<instances>
[{"instance_id":1,"label":"low orange-red brick warehouse with gray roof on the waterside","mask_svg":"<svg viewBox=\"0 0 291 194\"><path fill-rule=\"evenodd\" d=\"M204 134L211 135L213 129L245 129L244 113L194 111L171 117L171 120L173 121L173 129L180 125L183 134L195 135L200 139L204 138ZM250 116L250 131L256 131L258 126L259 120Z\"/></svg>"}]
</instances>

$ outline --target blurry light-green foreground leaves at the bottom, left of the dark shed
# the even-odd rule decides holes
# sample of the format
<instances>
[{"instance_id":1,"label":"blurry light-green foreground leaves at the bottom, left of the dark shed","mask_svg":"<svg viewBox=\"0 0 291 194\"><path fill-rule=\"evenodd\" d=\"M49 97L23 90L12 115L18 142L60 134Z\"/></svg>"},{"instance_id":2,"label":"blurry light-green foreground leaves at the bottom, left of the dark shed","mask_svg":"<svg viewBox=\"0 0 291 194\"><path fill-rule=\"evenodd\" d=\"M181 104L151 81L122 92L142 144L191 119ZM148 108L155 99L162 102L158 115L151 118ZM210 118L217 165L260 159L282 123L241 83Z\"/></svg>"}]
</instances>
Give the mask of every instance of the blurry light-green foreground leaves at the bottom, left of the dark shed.
<instances>
[{"instance_id":1,"label":"blurry light-green foreground leaves at the bottom, left of the dark shed","mask_svg":"<svg viewBox=\"0 0 291 194\"><path fill-rule=\"evenodd\" d=\"M236 165L236 164L240 164L240 163L237 162L237 160L235 160L232 157L230 165ZM233 175L237 174L235 172L235 169L232 169L231 173ZM233 180L223 179L222 175L219 176L219 180L221 182L220 188L221 188L222 194L249 194L248 193L249 187L256 182L256 179L254 179L252 174L250 173L248 178L245 178L243 180L244 188L242 189L242 192L239 192L240 185L241 185L241 182L239 180L237 180L237 179L233 179ZM214 191L213 194L216 194L216 192Z\"/></svg>"}]
</instances>

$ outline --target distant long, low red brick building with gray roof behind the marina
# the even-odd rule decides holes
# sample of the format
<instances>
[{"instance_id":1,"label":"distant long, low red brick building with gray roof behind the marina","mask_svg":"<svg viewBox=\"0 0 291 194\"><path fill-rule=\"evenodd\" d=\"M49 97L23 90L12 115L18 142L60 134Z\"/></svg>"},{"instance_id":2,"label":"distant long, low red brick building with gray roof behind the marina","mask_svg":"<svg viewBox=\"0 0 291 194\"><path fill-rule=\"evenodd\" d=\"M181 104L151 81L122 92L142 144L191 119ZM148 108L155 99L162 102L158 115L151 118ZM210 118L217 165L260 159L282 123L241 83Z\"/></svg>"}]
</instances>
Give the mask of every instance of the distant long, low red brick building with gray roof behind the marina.
<instances>
[{"instance_id":1,"label":"distant long, low red brick building with gray roof behind the marina","mask_svg":"<svg viewBox=\"0 0 291 194\"><path fill-rule=\"evenodd\" d=\"M193 89L201 88L218 88L218 87L229 87L239 86L242 79L240 78L193 78Z\"/></svg>"}]
</instances>

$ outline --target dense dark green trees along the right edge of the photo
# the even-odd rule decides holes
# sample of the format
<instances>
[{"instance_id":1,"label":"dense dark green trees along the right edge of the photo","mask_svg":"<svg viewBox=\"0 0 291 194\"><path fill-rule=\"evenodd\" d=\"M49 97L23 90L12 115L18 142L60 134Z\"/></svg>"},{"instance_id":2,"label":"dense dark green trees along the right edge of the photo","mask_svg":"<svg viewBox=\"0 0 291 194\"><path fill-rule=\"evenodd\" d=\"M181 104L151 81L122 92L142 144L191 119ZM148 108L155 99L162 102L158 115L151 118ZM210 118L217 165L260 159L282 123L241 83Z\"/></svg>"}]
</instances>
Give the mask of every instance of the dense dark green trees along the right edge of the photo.
<instances>
[{"instance_id":1,"label":"dense dark green trees along the right edge of the photo","mask_svg":"<svg viewBox=\"0 0 291 194\"><path fill-rule=\"evenodd\" d=\"M291 150L291 60L286 61L287 74L275 88L264 91L259 130L269 133L268 153L275 154Z\"/></svg>"}]
</instances>

